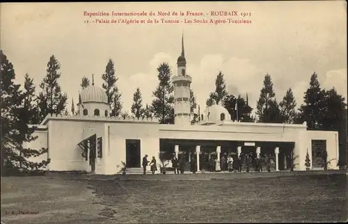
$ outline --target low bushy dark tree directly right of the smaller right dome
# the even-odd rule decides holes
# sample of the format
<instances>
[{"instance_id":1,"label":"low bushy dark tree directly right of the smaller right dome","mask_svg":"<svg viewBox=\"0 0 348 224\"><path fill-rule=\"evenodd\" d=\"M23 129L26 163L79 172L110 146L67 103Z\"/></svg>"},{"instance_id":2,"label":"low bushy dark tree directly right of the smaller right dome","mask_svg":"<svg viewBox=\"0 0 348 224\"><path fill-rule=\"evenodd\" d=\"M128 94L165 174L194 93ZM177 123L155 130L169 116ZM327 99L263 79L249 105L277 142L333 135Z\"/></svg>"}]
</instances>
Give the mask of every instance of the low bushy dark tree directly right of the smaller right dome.
<instances>
[{"instance_id":1,"label":"low bushy dark tree directly right of the smaller right dome","mask_svg":"<svg viewBox=\"0 0 348 224\"><path fill-rule=\"evenodd\" d=\"M231 115L232 120L237 120L236 102L238 103L238 120L241 122L253 122L251 118L251 111L253 109L248 105L248 102L243 97L235 97L234 95L228 95L223 99L223 106L227 109Z\"/></svg>"}]
</instances>

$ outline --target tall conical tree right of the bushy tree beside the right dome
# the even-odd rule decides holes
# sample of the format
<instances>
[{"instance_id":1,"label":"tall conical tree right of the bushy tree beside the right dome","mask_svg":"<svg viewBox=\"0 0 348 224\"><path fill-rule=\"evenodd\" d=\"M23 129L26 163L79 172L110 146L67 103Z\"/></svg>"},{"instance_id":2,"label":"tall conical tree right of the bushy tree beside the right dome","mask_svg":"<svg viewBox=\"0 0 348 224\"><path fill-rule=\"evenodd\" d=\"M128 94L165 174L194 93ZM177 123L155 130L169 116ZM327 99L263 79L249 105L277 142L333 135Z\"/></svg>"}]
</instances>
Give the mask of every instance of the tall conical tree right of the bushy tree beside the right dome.
<instances>
[{"instance_id":1,"label":"tall conical tree right of the bushy tree beside the right dome","mask_svg":"<svg viewBox=\"0 0 348 224\"><path fill-rule=\"evenodd\" d=\"M257 103L257 111L259 122L281 122L280 109L276 102L276 94L274 93L271 76L266 74L264 77L263 88L261 89L260 98Z\"/></svg>"}]
</instances>

